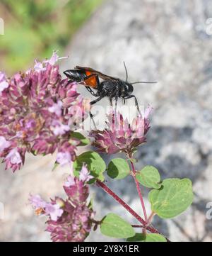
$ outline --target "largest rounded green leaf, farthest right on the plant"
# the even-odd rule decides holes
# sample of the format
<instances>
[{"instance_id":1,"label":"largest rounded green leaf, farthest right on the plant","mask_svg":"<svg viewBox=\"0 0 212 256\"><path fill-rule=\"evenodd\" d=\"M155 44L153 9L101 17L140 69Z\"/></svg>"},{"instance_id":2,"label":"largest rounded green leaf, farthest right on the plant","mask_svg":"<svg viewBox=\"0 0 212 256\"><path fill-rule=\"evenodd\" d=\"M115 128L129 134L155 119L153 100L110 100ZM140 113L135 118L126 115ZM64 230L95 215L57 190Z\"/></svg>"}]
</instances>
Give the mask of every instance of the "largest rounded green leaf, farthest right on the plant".
<instances>
[{"instance_id":1,"label":"largest rounded green leaf, farthest right on the plant","mask_svg":"<svg viewBox=\"0 0 212 256\"><path fill-rule=\"evenodd\" d=\"M148 194L152 211L160 218L174 218L185 211L193 201L190 179L165 179L160 189Z\"/></svg>"}]
</instances>

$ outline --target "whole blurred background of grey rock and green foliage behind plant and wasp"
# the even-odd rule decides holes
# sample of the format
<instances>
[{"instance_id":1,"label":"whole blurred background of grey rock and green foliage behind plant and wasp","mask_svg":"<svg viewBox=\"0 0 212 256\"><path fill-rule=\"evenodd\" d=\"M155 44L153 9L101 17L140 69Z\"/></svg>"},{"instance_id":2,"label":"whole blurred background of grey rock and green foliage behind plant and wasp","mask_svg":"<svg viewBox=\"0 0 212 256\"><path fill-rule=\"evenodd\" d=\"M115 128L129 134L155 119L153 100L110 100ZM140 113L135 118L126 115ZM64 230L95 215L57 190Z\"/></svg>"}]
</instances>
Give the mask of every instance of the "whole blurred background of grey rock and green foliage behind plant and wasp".
<instances>
[{"instance_id":1,"label":"whole blurred background of grey rock and green foliage behind plant and wasp","mask_svg":"<svg viewBox=\"0 0 212 256\"><path fill-rule=\"evenodd\" d=\"M70 0L0 1L4 35L0 35L0 70L8 75L28 69L52 50L69 55L61 71L90 66L136 84L139 104L151 104L148 142L136 157L137 167L154 165L167 177L189 177L194 204L173 220L154 225L174 241L212 241L212 2L210 0ZM81 89L85 96L86 90ZM101 101L103 105L107 101ZM105 157L105 155L102 155ZM115 155L112 155L115 157ZM13 174L0 166L0 201L4 204L0 240L45 241L45 220L27 204L29 192L48 199L63 196L68 168L52 172L55 157L28 155ZM108 162L110 157L105 157ZM141 214L131 178L107 184ZM97 218L113 211L127 216L109 196L93 187ZM147 199L148 191L144 192ZM148 211L150 206L146 200ZM110 241L91 233L90 241Z\"/></svg>"}]
</instances>

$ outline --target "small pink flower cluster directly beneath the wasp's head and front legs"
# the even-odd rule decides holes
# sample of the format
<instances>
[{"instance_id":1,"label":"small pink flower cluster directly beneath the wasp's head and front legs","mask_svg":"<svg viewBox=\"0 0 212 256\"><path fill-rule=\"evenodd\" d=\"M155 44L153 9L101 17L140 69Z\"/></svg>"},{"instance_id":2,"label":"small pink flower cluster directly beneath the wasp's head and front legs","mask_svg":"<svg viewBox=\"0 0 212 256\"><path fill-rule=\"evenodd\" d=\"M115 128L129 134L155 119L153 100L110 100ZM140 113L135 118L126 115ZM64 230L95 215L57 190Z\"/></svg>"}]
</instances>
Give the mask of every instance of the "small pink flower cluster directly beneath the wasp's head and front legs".
<instances>
[{"instance_id":1,"label":"small pink flower cluster directly beneath the wasp's head and front legs","mask_svg":"<svg viewBox=\"0 0 212 256\"><path fill-rule=\"evenodd\" d=\"M149 113L152 108L148 106L143 116L139 115L129 123L122 114L112 112L107 116L107 128L105 130L92 130L90 137L93 138L93 145L100 152L114 154L117 152L131 153L133 150L146 142L150 122Z\"/></svg>"}]
</instances>

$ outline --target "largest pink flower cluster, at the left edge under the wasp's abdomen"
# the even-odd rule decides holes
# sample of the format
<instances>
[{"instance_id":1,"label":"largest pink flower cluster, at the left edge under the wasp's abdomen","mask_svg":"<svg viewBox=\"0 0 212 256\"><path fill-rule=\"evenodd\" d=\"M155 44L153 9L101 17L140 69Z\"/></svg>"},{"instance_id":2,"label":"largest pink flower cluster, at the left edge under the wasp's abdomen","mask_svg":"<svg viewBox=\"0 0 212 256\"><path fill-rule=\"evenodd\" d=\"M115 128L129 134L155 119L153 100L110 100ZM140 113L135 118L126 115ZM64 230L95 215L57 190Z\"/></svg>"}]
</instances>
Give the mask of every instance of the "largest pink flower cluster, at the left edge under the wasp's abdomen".
<instances>
[{"instance_id":1,"label":"largest pink flower cluster, at the left edge under the wasp's abdomen","mask_svg":"<svg viewBox=\"0 0 212 256\"><path fill-rule=\"evenodd\" d=\"M57 60L54 52L49 60L35 61L33 69L11 78L0 72L0 157L6 169L20 169L26 152L58 150L61 165L74 160L79 141L71 138L71 130L89 104L77 93L76 83L61 78Z\"/></svg>"}]
</instances>

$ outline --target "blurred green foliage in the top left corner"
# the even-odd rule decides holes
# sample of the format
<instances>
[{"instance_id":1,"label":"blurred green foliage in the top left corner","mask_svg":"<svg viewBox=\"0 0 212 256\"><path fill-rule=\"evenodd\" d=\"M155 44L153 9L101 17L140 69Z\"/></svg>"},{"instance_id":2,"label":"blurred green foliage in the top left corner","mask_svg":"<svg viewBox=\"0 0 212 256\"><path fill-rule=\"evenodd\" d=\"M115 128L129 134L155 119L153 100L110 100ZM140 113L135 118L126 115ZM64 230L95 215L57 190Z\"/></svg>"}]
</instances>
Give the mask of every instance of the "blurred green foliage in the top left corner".
<instances>
[{"instance_id":1,"label":"blurred green foliage in the top left corner","mask_svg":"<svg viewBox=\"0 0 212 256\"><path fill-rule=\"evenodd\" d=\"M1 0L0 70L27 68L35 58L62 50L102 0Z\"/></svg>"}]
</instances>

